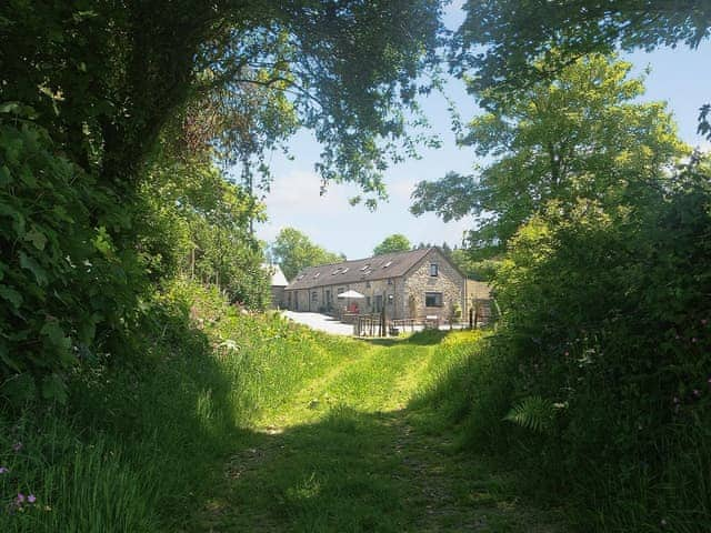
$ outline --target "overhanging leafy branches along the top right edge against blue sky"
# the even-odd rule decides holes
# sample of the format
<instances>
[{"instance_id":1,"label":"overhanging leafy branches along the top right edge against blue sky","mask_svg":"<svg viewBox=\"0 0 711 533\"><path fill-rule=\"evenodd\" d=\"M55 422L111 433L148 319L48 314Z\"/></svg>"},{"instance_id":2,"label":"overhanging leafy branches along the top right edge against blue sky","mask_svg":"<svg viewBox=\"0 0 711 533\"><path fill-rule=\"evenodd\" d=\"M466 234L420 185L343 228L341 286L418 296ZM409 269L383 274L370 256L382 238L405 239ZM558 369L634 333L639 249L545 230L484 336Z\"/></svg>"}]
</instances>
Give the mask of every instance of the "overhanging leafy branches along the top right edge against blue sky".
<instances>
[{"instance_id":1,"label":"overhanging leafy branches along the top right edge against blue sky","mask_svg":"<svg viewBox=\"0 0 711 533\"><path fill-rule=\"evenodd\" d=\"M695 48L711 34L711 3L698 0L469 0L464 11L452 70L475 71L473 91L495 89L511 98L585 54L610 53L618 46ZM699 130L711 138L709 112L703 105Z\"/></svg>"}]
</instances>

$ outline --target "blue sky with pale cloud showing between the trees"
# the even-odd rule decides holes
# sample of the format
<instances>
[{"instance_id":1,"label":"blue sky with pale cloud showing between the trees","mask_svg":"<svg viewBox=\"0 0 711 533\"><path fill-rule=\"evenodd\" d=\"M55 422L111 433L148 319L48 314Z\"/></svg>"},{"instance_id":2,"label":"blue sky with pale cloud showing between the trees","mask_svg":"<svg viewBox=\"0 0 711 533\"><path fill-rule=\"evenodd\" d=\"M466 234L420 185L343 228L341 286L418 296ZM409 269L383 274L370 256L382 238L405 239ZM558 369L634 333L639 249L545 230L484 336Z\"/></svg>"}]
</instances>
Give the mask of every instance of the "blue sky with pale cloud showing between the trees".
<instances>
[{"instance_id":1,"label":"blue sky with pale cloud showing between the trees","mask_svg":"<svg viewBox=\"0 0 711 533\"><path fill-rule=\"evenodd\" d=\"M448 27L455 28L463 19L461 3L454 1L449 7ZM634 64L635 72L648 66L652 69L643 100L667 101L679 124L680 137L689 144L704 149L711 147L697 134L697 117L699 107L711 100L711 70L707 68L710 58L709 41L697 50L662 49L622 57ZM447 93L455 102L462 119L471 119L479 112L459 80L450 79ZM472 227L471 219L444 223L433 214L413 217L408 210L417 182L441 178L450 170L471 172L477 163L471 149L460 149L454 144L444 98L432 94L422 105L432 132L442 140L442 148L421 149L422 159L391 167L385 172L390 200L380 202L375 212L349 204L348 199L359 192L353 185L332 184L326 195L319 195L320 179L313 168L320 147L308 131L299 132L290 142L294 159L274 153L271 160L274 181L266 198L269 221L257 227L258 237L271 242L282 228L292 227L316 243L342 252L349 259L371 255L372 249L392 233L403 233L414 244L459 243L462 233Z\"/></svg>"}]
</instances>

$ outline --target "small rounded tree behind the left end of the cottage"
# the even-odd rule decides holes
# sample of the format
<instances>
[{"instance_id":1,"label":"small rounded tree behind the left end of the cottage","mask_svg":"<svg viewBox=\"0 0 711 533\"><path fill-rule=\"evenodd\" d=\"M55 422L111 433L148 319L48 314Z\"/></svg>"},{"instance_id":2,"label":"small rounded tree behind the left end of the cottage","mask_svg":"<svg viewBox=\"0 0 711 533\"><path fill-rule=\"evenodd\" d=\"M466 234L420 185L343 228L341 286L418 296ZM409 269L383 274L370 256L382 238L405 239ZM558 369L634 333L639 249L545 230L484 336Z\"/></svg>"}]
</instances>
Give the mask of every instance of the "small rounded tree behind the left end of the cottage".
<instances>
[{"instance_id":1,"label":"small rounded tree behind the left end of the cottage","mask_svg":"<svg viewBox=\"0 0 711 533\"><path fill-rule=\"evenodd\" d=\"M279 232L271 247L271 253L288 280L293 280L307 266L338 263L346 260L346 255L342 253L338 254L324 250L293 228L284 228Z\"/></svg>"}]
</instances>

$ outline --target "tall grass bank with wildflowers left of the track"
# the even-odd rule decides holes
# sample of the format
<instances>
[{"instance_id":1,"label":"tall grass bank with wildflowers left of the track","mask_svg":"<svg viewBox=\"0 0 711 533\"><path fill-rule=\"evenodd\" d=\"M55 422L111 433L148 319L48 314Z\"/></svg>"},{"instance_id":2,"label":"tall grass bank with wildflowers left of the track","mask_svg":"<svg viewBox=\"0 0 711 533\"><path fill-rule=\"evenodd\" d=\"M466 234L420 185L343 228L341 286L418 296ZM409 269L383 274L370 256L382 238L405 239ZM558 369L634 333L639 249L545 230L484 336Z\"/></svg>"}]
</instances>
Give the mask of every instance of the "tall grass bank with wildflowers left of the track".
<instances>
[{"instance_id":1,"label":"tall grass bank with wildflowers left of the track","mask_svg":"<svg viewBox=\"0 0 711 533\"><path fill-rule=\"evenodd\" d=\"M180 531L244 430L353 356L190 285L157 299L137 349L79 369L67 406L0 412L0 531Z\"/></svg>"}]
</instances>

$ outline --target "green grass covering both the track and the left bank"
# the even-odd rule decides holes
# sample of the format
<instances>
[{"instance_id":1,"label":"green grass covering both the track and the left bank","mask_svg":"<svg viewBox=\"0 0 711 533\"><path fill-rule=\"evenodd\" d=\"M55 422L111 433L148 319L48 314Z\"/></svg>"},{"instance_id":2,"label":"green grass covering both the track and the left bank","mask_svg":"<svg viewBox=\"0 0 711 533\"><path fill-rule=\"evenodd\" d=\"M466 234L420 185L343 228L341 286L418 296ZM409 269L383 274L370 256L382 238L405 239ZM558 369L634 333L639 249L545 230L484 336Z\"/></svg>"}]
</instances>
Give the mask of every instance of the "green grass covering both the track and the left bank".
<instances>
[{"instance_id":1,"label":"green grass covering both the track and the left bank","mask_svg":"<svg viewBox=\"0 0 711 533\"><path fill-rule=\"evenodd\" d=\"M188 286L159 310L133 365L0 415L0 531L555 531L430 398L480 334L354 341Z\"/></svg>"}]
</instances>

